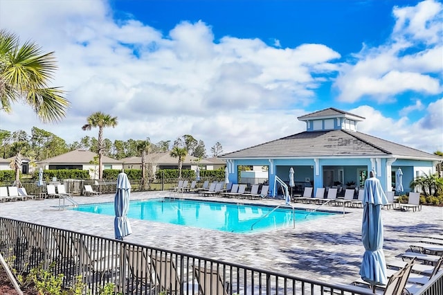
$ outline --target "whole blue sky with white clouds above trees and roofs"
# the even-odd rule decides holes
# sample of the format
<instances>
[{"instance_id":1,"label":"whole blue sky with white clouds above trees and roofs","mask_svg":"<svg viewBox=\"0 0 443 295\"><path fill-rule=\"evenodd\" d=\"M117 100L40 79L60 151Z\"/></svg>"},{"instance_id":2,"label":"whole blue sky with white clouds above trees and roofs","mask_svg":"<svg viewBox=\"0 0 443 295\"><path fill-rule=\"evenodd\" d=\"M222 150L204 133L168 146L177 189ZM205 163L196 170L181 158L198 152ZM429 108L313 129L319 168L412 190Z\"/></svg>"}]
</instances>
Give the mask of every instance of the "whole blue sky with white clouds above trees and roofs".
<instances>
[{"instance_id":1,"label":"whole blue sky with white clouds above trees and roofs","mask_svg":"<svg viewBox=\"0 0 443 295\"><path fill-rule=\"evenodd\" d=\"M0 0L1 28L55 51L71 101L61 123L18 104L0 128L71 143L104 111L112 141L192 134L230 152L336 107L365 117L361 132L443 150L442 15L434 0Z\"/></svg>"}]
</instances>

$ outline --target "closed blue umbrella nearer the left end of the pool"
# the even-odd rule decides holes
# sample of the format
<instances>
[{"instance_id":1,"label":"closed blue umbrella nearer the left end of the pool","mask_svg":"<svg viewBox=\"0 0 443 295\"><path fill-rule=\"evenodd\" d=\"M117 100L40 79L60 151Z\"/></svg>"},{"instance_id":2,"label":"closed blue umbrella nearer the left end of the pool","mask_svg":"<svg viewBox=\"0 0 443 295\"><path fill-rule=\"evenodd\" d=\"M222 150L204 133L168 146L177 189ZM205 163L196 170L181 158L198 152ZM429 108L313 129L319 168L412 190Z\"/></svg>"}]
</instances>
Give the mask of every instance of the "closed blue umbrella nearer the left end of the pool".
<instances>
[{"instance_id":1,"label":"closed blue umbrella nearer the left end of the pool","mask_svg":"<svg viewBox=\"0 0 443 295\"><path fill-rule=\"evenodd\" d=\"M123 238L132 233L131 225L127 220L127 211L129 211L129 196L131 195L131 184L125 172L120 172L117 177L117 190L114 197L114 231L116 239Z\"/></svg>"}]
</instances>

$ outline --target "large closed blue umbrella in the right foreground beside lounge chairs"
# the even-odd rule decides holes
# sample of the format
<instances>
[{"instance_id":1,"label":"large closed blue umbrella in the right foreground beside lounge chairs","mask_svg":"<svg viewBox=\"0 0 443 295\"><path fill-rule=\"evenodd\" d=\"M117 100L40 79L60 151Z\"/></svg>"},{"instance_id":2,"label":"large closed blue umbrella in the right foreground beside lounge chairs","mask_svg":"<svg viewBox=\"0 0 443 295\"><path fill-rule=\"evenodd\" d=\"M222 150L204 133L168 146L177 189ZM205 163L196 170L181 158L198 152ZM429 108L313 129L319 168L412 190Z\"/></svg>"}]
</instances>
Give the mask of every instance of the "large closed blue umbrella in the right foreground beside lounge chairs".
<instances>
[{"instance_id":1,"label":"large closed blue umbrella in the right foreground beside lounge chairs","mask_svg":"<svg viewBox=\"0 0 443 295\"><path fill-rule=\"evenodd\" d=\"M365 247L360 276L372 285L386 285L386 262L383 253L383 222L381 207L388 204L375 171L370 172L370 178L365 180L363 195L363 222L361 224L361 240Z\"/></svg>"}]
</instances>

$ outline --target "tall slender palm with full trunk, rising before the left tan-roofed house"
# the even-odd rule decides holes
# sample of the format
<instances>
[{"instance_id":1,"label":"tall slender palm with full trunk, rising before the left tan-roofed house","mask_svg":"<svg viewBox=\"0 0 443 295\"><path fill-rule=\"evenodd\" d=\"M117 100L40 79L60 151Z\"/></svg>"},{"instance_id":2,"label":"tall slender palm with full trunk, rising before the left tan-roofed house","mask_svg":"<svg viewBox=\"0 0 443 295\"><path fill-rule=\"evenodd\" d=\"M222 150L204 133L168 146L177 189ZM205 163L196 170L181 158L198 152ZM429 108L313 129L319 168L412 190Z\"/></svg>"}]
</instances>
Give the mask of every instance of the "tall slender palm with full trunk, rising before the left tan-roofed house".
<instances>
[{"instance_id":1,"label":"tall slender palm with full trunk, rising before the left tan-roofed house","mask_svg":"<svg viewBox=\"0 0 443 295\"><path fill-rule=\"evenodd\" d=\"M83 125L83 130L91 130L92 127L98 127L98 179L101 181L103 177L103 128L116 127L117 117L111 117L111 115L103 114L101 111L97 111L87 118L87 122L87 124Z\"/></svg>"}]
</instances>

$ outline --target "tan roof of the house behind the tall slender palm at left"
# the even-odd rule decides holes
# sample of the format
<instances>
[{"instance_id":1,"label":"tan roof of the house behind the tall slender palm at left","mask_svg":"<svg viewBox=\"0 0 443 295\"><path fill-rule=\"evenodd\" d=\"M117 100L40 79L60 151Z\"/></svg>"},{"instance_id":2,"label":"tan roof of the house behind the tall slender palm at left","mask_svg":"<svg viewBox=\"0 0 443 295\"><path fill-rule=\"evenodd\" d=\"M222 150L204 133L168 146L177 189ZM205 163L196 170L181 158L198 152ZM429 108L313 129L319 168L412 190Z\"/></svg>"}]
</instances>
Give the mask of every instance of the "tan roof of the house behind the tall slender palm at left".
<instances>
[{"instance_id":1,"label":"tan roof of the house behind the tall slender palm at left","mask_svg":"<svg viewBox=\"0 0 443 295\"><path fill-rule=\"evenodd\" d=\"M90 161L94 160L97 154L89 150L73 150L72 152L66 152L66 154L60 154L56 157L49 158L38 163L46 164L89 164ZM103 164L121 164L121 160L112 159L106 156L102 157Z\"/></svg>"}]
</instances>

